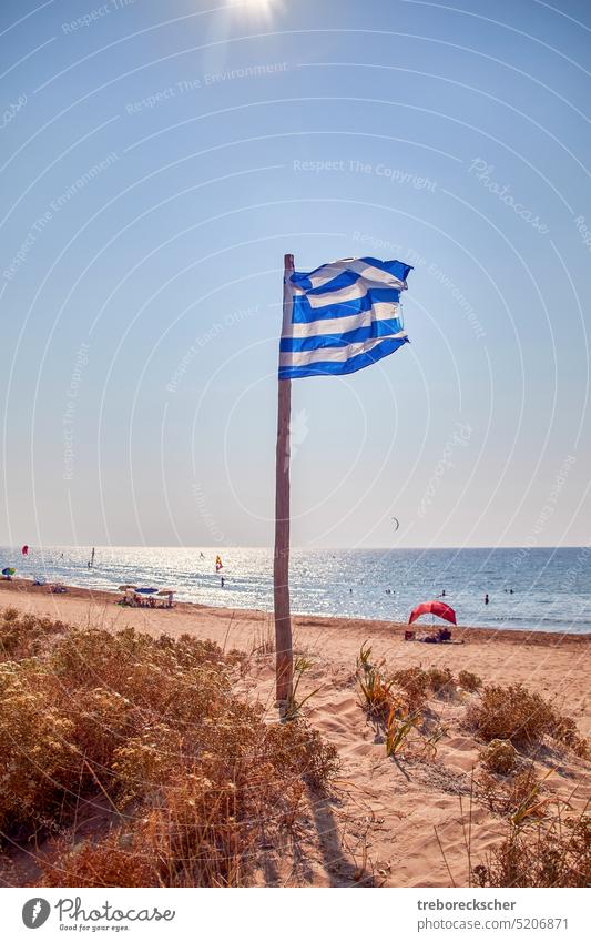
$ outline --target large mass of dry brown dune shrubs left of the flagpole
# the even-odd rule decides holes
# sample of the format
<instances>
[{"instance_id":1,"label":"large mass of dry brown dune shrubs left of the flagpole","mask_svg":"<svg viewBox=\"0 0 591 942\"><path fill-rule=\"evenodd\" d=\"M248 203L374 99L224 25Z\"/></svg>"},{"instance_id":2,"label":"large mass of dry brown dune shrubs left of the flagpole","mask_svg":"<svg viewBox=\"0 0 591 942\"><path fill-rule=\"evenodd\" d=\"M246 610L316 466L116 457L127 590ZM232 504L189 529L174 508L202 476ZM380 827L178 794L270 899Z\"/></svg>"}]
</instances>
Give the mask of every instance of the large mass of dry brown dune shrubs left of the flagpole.
<instances>
[{"instance_id":1,"label":"large mass of dry brown dune shrubs left of the flagpole","mask_svg":"<svg viewBox=\"0 0 591 942\"><path fill-rule=\"evenodd\" d=\"M245 656L185 635L0 620L0 830L58 837L47 885L241 885L269 834L334 776L304 722L235 693ZM81 803L106 808L73 843Z\"/></svg>"}]
</instances>

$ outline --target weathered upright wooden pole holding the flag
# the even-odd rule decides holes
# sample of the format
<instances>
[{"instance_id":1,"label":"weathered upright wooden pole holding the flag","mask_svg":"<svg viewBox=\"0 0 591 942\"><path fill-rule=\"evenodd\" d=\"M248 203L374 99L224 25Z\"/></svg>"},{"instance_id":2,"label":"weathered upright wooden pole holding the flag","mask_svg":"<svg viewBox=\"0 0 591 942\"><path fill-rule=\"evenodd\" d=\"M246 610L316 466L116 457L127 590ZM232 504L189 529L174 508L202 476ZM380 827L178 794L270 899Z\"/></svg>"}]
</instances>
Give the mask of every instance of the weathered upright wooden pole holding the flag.
<instances>
[{"instance_id":1,"label":"weathered upright wooden pole holding the flag","mask_svg":"<svg viewBox=\"0 0 591 942\"><path fill-rule=\"evenodd\" d=\"M286 280L294 271L294 256L284 257L283 316L292 316ZM289 614L289 422L292 381L278 379L277 450L275 455L275 556L273 589L275 601L276 698L285 706L293 691L294 652Z\"/></svg>"}]
</instances>

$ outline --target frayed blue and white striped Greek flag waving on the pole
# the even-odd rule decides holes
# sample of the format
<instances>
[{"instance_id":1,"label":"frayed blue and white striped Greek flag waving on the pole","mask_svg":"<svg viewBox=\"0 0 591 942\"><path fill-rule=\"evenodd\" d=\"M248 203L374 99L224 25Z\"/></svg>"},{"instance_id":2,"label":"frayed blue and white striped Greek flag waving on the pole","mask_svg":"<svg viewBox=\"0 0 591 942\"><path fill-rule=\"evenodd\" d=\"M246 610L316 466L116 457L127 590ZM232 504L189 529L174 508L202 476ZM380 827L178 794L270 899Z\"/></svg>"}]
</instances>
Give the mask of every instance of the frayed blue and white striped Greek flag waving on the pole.
<instances>
[{"instance_id":1,"label":"frayed blue and white striped Greek flag waving on the pole","mask_svg":"<svg viewBox=\"0 0 591 942\"><path fill-rule=\"evenodd\" d=\"M340 259L286 278L279 379L343 376L408 343L400 292L412 265Z\"/></svg>"}]
</instances>

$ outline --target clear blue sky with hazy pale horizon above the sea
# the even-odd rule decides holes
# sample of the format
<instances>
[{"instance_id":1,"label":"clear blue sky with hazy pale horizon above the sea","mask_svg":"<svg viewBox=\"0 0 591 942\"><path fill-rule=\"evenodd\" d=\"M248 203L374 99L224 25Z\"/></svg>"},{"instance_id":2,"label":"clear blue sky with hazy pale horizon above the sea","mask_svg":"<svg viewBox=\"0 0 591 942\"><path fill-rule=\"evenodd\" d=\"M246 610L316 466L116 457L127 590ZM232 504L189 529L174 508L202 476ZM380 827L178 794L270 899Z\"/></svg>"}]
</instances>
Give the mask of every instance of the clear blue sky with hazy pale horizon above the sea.
<instances>
[{"instance_id":1,"label":"clear blue sky with hazy pale horizon above the sea","mask_svg":"<svg viewBox=\"0 0 591 942\"><path fill-rule=\"evenodd\" d=\"M3 0L0 543L269 545L293 252L415 264L410 346L293 384L294 544L587 544L590 39L583 0Z\"/></svg>"}]
</instances>

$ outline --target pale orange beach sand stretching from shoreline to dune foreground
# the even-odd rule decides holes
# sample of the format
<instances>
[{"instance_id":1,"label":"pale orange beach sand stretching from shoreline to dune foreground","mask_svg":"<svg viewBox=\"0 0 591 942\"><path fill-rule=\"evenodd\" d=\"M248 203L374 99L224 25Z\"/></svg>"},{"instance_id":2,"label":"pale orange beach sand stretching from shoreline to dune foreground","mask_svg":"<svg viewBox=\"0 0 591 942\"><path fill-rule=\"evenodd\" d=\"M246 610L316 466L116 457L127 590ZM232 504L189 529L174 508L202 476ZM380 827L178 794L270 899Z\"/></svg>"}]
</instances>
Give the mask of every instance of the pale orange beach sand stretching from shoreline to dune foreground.
<instances>
[{"instance_id":1,"label":"pale orange beach sand stretching from shoreline to dune foreground","mask_svg":"<svg viewBox=\"0 0 591 942\"><path fill-rule=\"evenodd\" d=\"M118 630L133 626L153 635L188 632L226 648L247 652L273 637L268 612L179 604L172 610L118 607L115 596L70 589L51 595L47 587L24 580L0 583L0 608L47 615L69 625ZM467 695L451 700L432 698L431 710L447 728L437 757L409 752L400 761L385 754L379 732L359 706L355 667L364 641L373 660L388 668L448 667L479 675L486 685L523 683L530 691L556 698L581 732L591 733L589 654L591 636L528 631L454 629L463 644L406 642L406 626L370 620L296 616L294 648L314 660L300 685L302 696L320 688L304 715L333 742L342 760L330 798L313 807L314 828L303 829L300 865L281 873L276 882L291 885L448 887L468 884L465 824L470 804L470 772L482 743L463 728ZM257 654L244 680L244 696L262 701L273 715L274 656ZM590 764L572 753L552 749L537 758L547 794L570 798L581 809L591 797ZM437 833L436 833L437 830ZM505 827L481 802L471 812L471 862L486 858L499 843ZM441 848L444 852L441 851ZM273 882L261 875L261 882Z\"/></svg>"}]
</instances>

